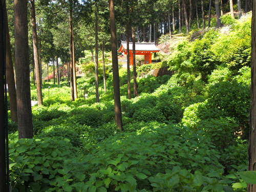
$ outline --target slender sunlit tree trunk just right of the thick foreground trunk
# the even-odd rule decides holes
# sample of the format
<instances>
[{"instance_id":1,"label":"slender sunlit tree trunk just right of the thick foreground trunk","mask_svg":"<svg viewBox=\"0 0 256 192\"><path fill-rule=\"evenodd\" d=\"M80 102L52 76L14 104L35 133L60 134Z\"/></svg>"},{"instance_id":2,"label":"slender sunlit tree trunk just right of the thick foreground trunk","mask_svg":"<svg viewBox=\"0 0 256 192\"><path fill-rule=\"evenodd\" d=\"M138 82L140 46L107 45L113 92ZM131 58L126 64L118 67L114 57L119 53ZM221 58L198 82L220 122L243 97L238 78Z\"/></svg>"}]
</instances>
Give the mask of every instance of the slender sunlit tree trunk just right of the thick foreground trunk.
<instances>
[{"instance_id":1,"label":"slender sunlit tree trunk just right of the thick foreground trunk","mask_svg":"<svg viewBox=\"0 0 256 192\"><path fill-rule=\"evenodd\" d=\"M38 43L36 32L36 20L35 20L35 1L30 0L31 3L31 20L32 20L32 33L33 33L33 50L34 50L34 63L36 74L36 91L37 91L37 104L42 105L42 89L41 89L41 75L40 75L40 63L38 55Z\"/></svg>"}]
</instances>

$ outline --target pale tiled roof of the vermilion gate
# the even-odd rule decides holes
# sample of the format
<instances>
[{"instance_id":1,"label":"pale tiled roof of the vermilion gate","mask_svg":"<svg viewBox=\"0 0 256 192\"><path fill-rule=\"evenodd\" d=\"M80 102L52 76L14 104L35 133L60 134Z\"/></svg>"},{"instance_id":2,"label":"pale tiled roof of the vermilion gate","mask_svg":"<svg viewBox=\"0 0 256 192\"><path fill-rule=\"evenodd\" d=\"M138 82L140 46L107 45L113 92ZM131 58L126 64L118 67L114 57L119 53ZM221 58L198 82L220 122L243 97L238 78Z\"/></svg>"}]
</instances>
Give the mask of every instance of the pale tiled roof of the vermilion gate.
<instances>
[{"instance_id":1,"label":"pale tiled roof of the vermilion gate","mask_svg":"<svg viewBox=\"0 0 256 192\"><path fill-rule=\"evenodd\" d=\"M123 49L127 49L127 42L122 41L120 48L123 47ZM118 51L124 51L124 50ZM133 49L133 42L129 42L129 49ZM155 42L135 42L135 51L160 51L155 45Z\"/></svg>"}]
</instances>

